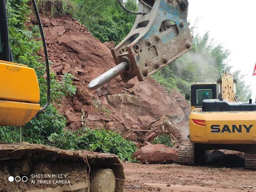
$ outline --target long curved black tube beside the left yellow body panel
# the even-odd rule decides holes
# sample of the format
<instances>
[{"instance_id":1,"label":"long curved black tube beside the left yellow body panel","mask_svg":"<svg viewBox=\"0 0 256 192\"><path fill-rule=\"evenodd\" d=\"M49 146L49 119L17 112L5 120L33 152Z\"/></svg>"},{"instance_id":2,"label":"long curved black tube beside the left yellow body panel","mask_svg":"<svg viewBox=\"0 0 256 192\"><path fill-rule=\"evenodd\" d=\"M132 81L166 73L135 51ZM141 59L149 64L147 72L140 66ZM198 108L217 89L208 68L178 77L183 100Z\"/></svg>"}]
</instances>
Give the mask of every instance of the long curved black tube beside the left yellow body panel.
<instances>
[{"instance_id":1,"label":"long curved black tube beside the left yellow body panel","mask_svg":"<svg viewBox=\"0 0 256 192\"><path fill-rule=\"evenodd\" d=\"M41 20L40 20L38 9L36 7L35 0L32 0L32 4L33 4L33 8L34 8L34 11L35 11L35 14L36 14L38 27L39 27L39 30L40 30L40 33L41 33L41 36L42 36L42 42L43 42L43 47L44 47L44 56L45 56L45 62L46 62L47 101L46 101L46 104L44 105L44 107L39 109L39 111L44 111L48 107L48 105L50 103L50 99L51 99L50 98L50 88L51 87L50 87L49 59L48 59L47 47L46 47L45 38L44 38L44 30L43 30L43 27L42 27L42 23L41 23Z\"/></svg>"}]
</instances>

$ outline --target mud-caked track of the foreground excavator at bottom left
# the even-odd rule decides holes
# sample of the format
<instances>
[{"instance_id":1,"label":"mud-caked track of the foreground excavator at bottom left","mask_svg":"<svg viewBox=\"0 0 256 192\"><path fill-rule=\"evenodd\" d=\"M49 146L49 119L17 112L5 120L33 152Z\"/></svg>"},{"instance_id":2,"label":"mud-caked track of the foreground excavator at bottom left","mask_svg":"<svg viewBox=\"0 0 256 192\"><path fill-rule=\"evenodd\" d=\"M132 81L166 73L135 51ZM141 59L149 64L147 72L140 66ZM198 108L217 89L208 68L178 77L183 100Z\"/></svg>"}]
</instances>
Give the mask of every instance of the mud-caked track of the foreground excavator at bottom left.
<instances>
[{"instance_id":1,"label":"mud-caked track of the foreground excavator at bottom left","mask_svg":"<svg viewBox=\"0 0 256 192\"><path fill-rule=\"evenodd\" d=\"M116 155L27 143L0 143L0 178L1 192L123 192L125 182Z\"/></svg>"}]
</instances>

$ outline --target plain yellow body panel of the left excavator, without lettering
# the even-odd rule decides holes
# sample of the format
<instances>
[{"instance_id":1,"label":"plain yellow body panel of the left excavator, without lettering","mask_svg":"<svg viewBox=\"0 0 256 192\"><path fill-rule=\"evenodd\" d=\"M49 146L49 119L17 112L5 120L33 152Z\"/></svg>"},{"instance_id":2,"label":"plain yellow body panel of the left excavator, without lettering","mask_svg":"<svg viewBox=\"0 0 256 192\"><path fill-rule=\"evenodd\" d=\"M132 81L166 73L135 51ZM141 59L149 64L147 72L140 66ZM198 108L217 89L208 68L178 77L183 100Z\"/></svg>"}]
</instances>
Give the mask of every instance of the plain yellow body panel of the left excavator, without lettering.
<instances>
[{"instance_id":1,"label":"plain yellow body panel of the left excavator, without lettering","mask_svg":"<svg viewBox=\"0 0 256 192\"><path fill-rule=\"evenodd\" d=\"M26 124L40 109L35 70L0 60L0 82L0 126Z\"/></svg>"}]
</instances>

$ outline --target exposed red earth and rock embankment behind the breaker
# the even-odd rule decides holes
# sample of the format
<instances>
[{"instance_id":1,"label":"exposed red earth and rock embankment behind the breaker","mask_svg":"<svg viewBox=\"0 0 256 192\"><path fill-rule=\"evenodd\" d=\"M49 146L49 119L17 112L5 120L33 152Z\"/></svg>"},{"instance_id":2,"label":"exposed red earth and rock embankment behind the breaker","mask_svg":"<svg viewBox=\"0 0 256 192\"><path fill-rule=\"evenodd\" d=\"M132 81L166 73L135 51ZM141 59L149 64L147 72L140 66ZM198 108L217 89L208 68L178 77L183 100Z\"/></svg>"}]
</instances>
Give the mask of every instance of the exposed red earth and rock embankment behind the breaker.
<instances>
[{"instance_id":1,"label":"exposed red earth and rock embankment behind the breaker","mask_svg":"<svg viewBox=\"0 0 256 192\"><path fill-rule=\"evenodd\" d=\"M132 130L143 130L145 126L141 125L165 116L180 127L184 136L188 133L190 104L179 92L173 90L167 94L150 77L144 82L134 78L124 84L120 76L102 88L89 91L87 85L93 78L115 66L109 44L108 47L102 44L87 28L69 17L42 17L42 21L52 70L59 80L65 73L75 76L76 95L64 98L60 108L67 117L69 129L78 129L82 124L90 128L105 127L138 141L141 132ZM148 132L143 134L148 136L157 125L146 127Z\"/></svg>"}]
</instances>

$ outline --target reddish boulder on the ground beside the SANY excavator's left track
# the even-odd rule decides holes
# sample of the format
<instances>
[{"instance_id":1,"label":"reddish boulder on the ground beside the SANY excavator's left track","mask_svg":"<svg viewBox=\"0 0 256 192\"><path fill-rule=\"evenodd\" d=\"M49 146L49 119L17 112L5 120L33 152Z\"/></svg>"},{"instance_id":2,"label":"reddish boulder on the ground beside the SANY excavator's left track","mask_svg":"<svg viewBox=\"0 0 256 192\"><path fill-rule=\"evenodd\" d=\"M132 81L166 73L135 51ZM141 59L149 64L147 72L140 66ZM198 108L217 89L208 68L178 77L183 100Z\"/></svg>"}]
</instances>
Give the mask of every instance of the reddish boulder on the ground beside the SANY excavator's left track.
<instances>
[{"instance_id":1,"label":"reddish boulder on the ground beside the SANY excavator's left track","mask_svg":"<svg viewBox=\"0 0 256 192\"><path fill-rule=\"evenodd\" d=\"M166 145L145 145L136 151L132 158L137 158L141 163L176 163L178 162L178 149Z\"/></svg>"}]
</instances>

